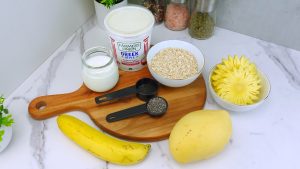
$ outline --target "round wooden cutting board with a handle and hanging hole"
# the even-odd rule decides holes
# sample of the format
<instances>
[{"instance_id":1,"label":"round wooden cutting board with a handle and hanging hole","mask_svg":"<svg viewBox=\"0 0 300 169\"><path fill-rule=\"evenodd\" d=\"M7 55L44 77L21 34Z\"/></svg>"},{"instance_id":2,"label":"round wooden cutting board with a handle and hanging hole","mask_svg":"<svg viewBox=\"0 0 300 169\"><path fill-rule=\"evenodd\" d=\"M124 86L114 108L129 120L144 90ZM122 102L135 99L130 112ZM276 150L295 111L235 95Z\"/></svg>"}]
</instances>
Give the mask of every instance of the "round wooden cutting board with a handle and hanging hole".
<instances>
[{"instance_id":1,"label":"round wooden cutting board with a handle and hanging hole","mask_svg":"<svg viewBox=\"0 0 300 169\"><path fill-rule=\"evenodd\" d=\"M120 71L118 84L108 92L96 93L83 84L72 93L37 97L29 104L28 111L32 118L43 120L62 113L79 110L87 113L102 130L116 137L135 141L158 141L169 137L173 126L181 117L191 111L202 109L204 106L206 87L204 79L200 75L197 80L185 87L159 86L158 96L164 97L169 105L165 115L151 117L148 114L142 114L108 123L105 119L106 115L144 102L132 96L97 105L95 97L135 85L143 77L152 78L147 67L136 72Z\"/></svg>"}]
</instances>

